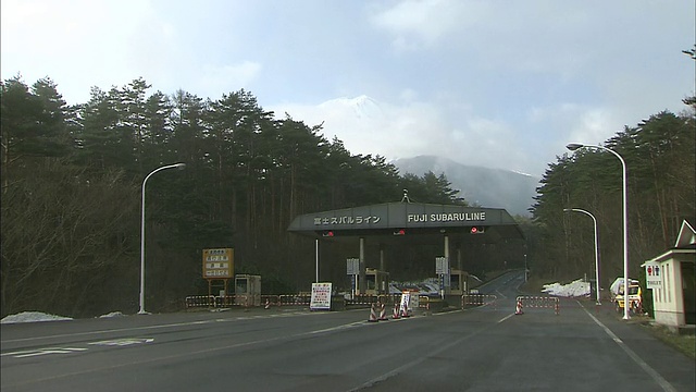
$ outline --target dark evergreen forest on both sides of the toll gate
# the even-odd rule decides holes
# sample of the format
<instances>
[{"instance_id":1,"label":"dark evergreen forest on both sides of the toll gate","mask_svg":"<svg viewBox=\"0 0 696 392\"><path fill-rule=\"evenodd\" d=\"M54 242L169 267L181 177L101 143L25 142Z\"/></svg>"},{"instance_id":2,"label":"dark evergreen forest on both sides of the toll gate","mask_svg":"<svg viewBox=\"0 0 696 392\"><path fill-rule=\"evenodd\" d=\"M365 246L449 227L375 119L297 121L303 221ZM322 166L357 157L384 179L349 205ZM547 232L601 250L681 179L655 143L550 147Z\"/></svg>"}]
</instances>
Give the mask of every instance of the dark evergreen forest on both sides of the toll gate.
<instances>
[{"instance_id":1,"label":"dark evergreen forest on both sides of the toll gate","mask_svg":"<svg viewBox=\"0 0 696 392\"><path fill-rule=\"evenodd\" d=\"M264 294L308 291L314 241L290 234L298 215L399 201L463 204L444 174L399 173L385 158L353 155L322 124L265 111L244 89L217 99L152 91L145 79L67 105L58 85L20 76L1 85L2 317L25 310L71 317L135 313L140 277L141 186L147 182L148 310L182 309L208 293L201 252L235 249L235 272L262 275ZM696 216L696 106L625 126L602 146L627 167L631 274L673 246ZM593 142L593 140L580 140ZM622 271L620 161L598 149L557 157L529 217L515 217L523 250L498 247L472 272L521 268L551 281L593 275L598 221L601 285ZM489 206L495 207L495 206ZM345 258L322 270L344 285ZM401 275L434 273L432 260L405 261ZM370 264L369 264L370 266ZM478 271L481 269L481 271Z\"/></svg>"}]
</instances>

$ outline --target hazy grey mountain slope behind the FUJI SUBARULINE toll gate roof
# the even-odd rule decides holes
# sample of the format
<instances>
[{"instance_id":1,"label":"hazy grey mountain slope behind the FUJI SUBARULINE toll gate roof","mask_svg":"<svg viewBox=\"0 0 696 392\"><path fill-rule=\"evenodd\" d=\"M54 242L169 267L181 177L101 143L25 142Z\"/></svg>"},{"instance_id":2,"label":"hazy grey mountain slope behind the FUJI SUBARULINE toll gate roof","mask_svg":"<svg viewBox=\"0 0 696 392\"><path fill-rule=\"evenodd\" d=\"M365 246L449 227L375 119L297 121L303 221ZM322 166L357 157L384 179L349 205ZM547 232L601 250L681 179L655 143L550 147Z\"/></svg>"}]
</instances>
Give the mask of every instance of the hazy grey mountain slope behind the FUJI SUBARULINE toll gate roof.
<instances>
[{"instance_id":1,"label":"hazy grey mountain slope behind the FUJI SUBARULINE toll gate roof","mask_svg":"<svg viewBox=\"0 0 696 392\"><path fill-rule=\"evenodd\" d=\"M445 173L451 187L459 189L472 206L505 208L510 215L529 216L539 179L501 169L465 166L447 158L419 156L393 161L401 174Z\"/></svg>"}]
</instances>

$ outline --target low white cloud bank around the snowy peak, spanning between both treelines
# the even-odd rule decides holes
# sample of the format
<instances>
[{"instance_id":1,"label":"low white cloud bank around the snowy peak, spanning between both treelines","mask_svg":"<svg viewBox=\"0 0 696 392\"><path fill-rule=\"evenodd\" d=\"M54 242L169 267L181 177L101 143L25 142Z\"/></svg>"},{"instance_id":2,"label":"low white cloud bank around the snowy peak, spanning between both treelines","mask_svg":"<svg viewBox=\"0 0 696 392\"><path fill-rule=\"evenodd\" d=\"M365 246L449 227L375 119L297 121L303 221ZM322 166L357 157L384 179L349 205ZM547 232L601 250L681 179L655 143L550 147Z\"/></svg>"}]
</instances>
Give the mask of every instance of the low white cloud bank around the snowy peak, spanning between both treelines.
<instances>
[{"instance_id":1,"label":"low white cloud bank around the snowy peak, spanning between both treelines","mask_svg":"<svg viewBox=\"0 0 696 392\"><path fill-rule=\"evenodd\" d=\"M568 143L600 144L623 128L622 114L600 106L560 102L510 121L443 99L425 102L415 90L405 89L394 101L363 95L270 109L310 126L323 123L324 136L343 140L353 155L387 160L433 155L537 176L566 152Z\"/></svg>"}]
</instances>

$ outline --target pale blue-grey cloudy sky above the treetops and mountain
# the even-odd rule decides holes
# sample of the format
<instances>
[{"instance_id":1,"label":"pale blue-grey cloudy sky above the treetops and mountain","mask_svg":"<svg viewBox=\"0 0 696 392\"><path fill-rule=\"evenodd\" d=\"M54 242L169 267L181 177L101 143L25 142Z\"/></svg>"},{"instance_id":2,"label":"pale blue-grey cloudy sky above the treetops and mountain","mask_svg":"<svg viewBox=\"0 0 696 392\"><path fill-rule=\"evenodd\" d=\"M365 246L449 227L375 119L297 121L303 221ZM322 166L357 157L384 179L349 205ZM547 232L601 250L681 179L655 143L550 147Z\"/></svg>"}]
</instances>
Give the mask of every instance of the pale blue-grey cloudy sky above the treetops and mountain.
<instances>
[{"instance_id":1,"label":"pale blue-grey cloudy sky above the treetops and mountain","mask_svg":"<svg viewBox=\"0 0 696 392\"><path fill-rule=\"evenodd\" d=\"M324 122L352 154L435 155L540 176L694 94L694 0L2 0L1 73L69 103L151 93Z\"/></svg>"}]
</instances>

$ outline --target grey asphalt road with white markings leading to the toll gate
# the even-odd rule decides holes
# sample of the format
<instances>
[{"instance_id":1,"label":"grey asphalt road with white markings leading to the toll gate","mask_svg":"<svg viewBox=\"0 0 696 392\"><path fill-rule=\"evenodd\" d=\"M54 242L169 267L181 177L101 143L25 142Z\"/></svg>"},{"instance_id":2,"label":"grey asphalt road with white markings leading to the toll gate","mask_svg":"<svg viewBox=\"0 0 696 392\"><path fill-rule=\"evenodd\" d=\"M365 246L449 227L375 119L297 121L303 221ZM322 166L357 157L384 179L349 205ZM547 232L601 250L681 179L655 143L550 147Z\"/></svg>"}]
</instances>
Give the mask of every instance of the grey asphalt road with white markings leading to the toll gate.
<instances>
[{"instance_id":1,"label":"grey asphalt road with white markings leading to the toll gate","mask_svg":"<svg viewBox=\"0 0 696 392\"><path fill-rule=\"evenodd\" d=\"M369 309L134 315L2 324L9 391L694 391L693 359L610 305L497 301L368 322Z\"/></svg>"}]
</instances>

